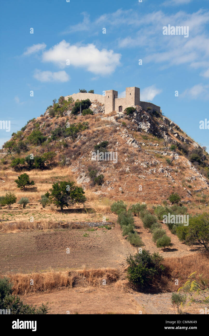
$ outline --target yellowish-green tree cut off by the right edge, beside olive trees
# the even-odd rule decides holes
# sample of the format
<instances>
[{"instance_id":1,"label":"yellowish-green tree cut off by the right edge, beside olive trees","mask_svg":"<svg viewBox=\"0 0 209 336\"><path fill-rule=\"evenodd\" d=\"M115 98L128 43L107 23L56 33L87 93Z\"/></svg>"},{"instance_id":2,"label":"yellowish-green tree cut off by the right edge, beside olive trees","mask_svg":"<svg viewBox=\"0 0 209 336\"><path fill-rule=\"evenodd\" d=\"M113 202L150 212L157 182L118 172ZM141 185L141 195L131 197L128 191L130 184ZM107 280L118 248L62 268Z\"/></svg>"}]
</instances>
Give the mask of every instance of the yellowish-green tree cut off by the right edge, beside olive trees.
<instances>
[{"instance_id":1,"label":"yellowish-green tree cut off by the right edge, beside olive trees","mask_svg":"<svg viewBox=\"0 0 209 336\"><path fill-rule=\"evenodd\" d=\"M188 226L178 226L176 229L177 237L180 241L185 241L187 245L200 243L209 249L209 213L204 212L189 219Z\"/></svg>"}]
</instances>

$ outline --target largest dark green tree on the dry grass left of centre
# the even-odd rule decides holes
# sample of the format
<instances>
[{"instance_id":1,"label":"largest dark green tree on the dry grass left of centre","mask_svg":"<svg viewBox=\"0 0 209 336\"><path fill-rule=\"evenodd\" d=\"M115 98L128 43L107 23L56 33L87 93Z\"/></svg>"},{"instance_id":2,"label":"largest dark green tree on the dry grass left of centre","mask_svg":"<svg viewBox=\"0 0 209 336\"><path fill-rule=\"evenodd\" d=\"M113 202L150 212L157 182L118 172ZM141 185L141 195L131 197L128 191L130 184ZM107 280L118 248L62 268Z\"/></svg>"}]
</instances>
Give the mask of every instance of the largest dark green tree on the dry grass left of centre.
<instances>
[{"instance_id":1,"label":"largest dark green tree on the dry grass left of centre","mask_svg":"<svg viewBox=\"0 0 209 336\"><path fill-rule=\"evenodd\" d=\"M84 203L86 201L83 188L75 186L74 182L71 181L53 183L49 191L50 203L56 205L61 211L63 211L64 206L68 208L75 203Z\"/></svg>"}]
</instances>

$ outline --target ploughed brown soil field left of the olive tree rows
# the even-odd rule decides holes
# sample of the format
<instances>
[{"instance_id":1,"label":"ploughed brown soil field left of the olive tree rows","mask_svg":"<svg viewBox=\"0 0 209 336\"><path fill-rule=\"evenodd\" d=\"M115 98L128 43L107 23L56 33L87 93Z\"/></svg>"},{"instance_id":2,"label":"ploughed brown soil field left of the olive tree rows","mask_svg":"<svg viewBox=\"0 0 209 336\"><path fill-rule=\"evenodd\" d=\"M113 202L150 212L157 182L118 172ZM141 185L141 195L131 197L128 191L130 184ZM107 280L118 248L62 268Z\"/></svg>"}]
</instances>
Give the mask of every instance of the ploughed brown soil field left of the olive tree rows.
<instances>
[{"instance_id":1,"label":"ploughed brown soil field left of the olive tree rows","mask_svg":"<svg viewBox=\"0 0 209 336\"><path fill-rule=\"evenodd\" d=\"M34 230L0 235L0 272L119 267L135 253L120 228ZM66 249L69 248L69 253Z\"/></svg>"}]
</instances>

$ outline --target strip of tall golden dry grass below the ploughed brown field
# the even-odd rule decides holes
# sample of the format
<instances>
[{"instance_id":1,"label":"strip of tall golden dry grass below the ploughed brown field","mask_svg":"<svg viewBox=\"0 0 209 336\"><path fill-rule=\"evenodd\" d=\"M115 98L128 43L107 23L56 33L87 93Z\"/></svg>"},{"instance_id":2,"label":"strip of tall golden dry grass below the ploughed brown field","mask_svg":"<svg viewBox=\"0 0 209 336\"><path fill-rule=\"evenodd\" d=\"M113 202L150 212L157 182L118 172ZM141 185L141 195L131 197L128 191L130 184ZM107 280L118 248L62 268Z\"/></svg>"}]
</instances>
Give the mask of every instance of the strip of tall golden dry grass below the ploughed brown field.
<instances>
[{"instance_id":1,"label":"strip of tall golden dry grass below the ploughed brown field","mask_svg":"<svg viewBox=\"0 0 209 336\"><path fill-rule=\"evenodd\" d=\"M46 273L31 273L31 274L8 274L13 283L13 294L31 294L37 292L51 292L64 288L72 288L76 284L82 284L84 287L103 286L103 280L106 280L106 285L116 282L121 271L117 269L102 268ZM33 285L31 281L33 280Z\"/></svg>"}]
</instances>

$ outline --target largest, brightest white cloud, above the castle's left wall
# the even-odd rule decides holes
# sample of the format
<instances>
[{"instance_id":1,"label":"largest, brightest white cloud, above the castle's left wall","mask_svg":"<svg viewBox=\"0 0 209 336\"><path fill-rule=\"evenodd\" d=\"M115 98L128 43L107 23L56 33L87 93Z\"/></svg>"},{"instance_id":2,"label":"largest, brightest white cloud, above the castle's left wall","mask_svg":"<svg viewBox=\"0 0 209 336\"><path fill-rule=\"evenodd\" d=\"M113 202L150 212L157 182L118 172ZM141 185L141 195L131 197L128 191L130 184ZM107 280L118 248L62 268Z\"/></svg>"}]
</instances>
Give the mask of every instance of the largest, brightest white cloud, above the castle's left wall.
<instances>
[{"instance_id":1,"label":"largest, brightest white cloud, above the castle's left wall","mask_svg":"<svg viewBox=\"0 0 209 336\"><path fill-rule=\"evenodd\" d=\"M120 64L121 54L113 50L96 48L94 44L70 45L65 40L54 45L43 53L43 61L53 62L61 68L66 66L69 59L70 65L82 67L96 75L109 75Z\"/></svg>"}]
</instances>

